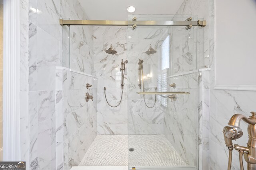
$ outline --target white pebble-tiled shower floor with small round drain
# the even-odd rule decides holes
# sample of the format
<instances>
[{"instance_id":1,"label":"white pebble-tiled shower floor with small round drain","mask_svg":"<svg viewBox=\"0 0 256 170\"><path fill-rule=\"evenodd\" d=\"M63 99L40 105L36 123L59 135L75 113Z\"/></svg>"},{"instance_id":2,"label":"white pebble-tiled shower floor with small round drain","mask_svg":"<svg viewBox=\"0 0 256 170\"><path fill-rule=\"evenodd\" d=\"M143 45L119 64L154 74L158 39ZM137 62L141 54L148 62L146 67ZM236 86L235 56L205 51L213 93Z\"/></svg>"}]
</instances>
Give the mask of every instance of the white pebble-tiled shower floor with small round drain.
<instances>
[{"instance_id":1,"label":"white pebble-tiled shower floor with small round drain","mask_svg":"<svg viewBox=\"0 0 256 170\"><path fill-rule=\"evenodd\" d=\"M128 162L130 166L186 165L164 135L97 135L79 166L127 166Z\"/></svg>"}]
</instances>

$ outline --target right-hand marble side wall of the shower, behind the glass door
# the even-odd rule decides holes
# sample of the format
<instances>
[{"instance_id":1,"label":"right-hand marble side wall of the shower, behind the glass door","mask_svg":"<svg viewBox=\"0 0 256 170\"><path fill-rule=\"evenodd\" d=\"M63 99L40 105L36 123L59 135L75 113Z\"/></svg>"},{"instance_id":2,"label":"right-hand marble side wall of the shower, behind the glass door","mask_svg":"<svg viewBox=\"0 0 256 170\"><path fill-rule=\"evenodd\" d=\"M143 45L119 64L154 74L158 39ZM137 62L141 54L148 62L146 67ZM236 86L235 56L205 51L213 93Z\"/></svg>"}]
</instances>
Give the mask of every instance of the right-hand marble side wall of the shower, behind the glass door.
<instances>
[{"instance_id":1,"label":"right-hand marble side wall of the shower, behind the glass door","mask_svg":"<svg viewBox=\"0 0 256 170\"><path fill-rule=\"evenodd\" d=\"M196 17L197 16L192 16ZM174 20L188 16L174 16ZM185 19L184 19L185 20ZM190 92L189 95L177 95L177 100L167 100L164 108L164 134L176 151L190 166L198 161L198 73L194 73L197 62L196 28L170 27L170 68L168 91Z\"/></svg>"}]
</instances>

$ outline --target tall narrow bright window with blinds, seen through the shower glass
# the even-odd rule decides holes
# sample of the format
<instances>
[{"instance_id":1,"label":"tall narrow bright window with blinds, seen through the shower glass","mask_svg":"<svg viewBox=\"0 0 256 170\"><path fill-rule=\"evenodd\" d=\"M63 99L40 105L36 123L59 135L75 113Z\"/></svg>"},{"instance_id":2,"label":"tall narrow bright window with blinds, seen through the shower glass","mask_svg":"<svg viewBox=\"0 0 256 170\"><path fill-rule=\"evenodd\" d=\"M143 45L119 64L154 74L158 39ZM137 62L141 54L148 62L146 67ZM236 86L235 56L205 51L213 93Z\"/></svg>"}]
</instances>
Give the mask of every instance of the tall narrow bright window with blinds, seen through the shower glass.
<instances>
[{"instance_id":1,"label":"tall narrow bright window with blinds, seen through the shower glass","mask_svg":"<svg viewBox=\"0 0 256 170\"><path fill-rule=\"evenodd\" d=\"M170 59L170 35L162 43L162 73L158 75L158 90L159 92L167 92L167 73ZM158 100L163 106L167 106L167 95L158 95Z\"/></svg>"}]
</instances>

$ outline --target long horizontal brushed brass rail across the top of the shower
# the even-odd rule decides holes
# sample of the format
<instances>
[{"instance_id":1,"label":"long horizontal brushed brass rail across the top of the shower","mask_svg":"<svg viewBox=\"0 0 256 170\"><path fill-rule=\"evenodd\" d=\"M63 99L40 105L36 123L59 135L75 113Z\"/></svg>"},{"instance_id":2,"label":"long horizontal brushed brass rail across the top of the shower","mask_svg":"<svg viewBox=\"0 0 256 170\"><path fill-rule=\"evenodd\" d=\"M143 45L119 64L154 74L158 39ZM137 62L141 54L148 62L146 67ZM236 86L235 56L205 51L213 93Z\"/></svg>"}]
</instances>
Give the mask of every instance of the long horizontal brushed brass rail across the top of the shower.
<instances>
[{"instance_id":1,"label":"long horizontal brushed brass rail across the top of the shower","mask_svg":"<svg viewBox=\"0 0 256 170\"><path fill-rule=\"evenodd\" d=\"M60 25L117 25L117 26L128 26L128 25L142 25L142 26L206 26L206 20L204 21L112 21L112 20L63 20L60 19Z\"/></svg>"}]
</instances>

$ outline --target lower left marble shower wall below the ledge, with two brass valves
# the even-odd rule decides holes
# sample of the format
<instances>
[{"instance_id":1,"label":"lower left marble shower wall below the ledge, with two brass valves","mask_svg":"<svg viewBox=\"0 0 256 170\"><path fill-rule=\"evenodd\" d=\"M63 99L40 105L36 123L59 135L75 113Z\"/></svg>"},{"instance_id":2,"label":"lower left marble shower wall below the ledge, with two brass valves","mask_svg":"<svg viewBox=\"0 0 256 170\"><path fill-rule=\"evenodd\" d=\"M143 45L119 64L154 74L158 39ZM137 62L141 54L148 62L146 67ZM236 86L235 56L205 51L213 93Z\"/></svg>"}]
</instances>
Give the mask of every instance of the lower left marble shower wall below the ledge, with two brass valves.
<instances>
[{"instance_id":1,"label":"lower left marble shower wall below the ledge, with two brass valves","mask_svg":"<svg viewBox=\"0 0 256 170\"><path fill-rule=\"evenodd\" d=\"M58 69L56 79L57 169L69 170L78 166L97 135L97 78ZM86 83L92 88L87 89ZM94 101L85 101L86 92Z\"/></svg>"}]
</instances>

